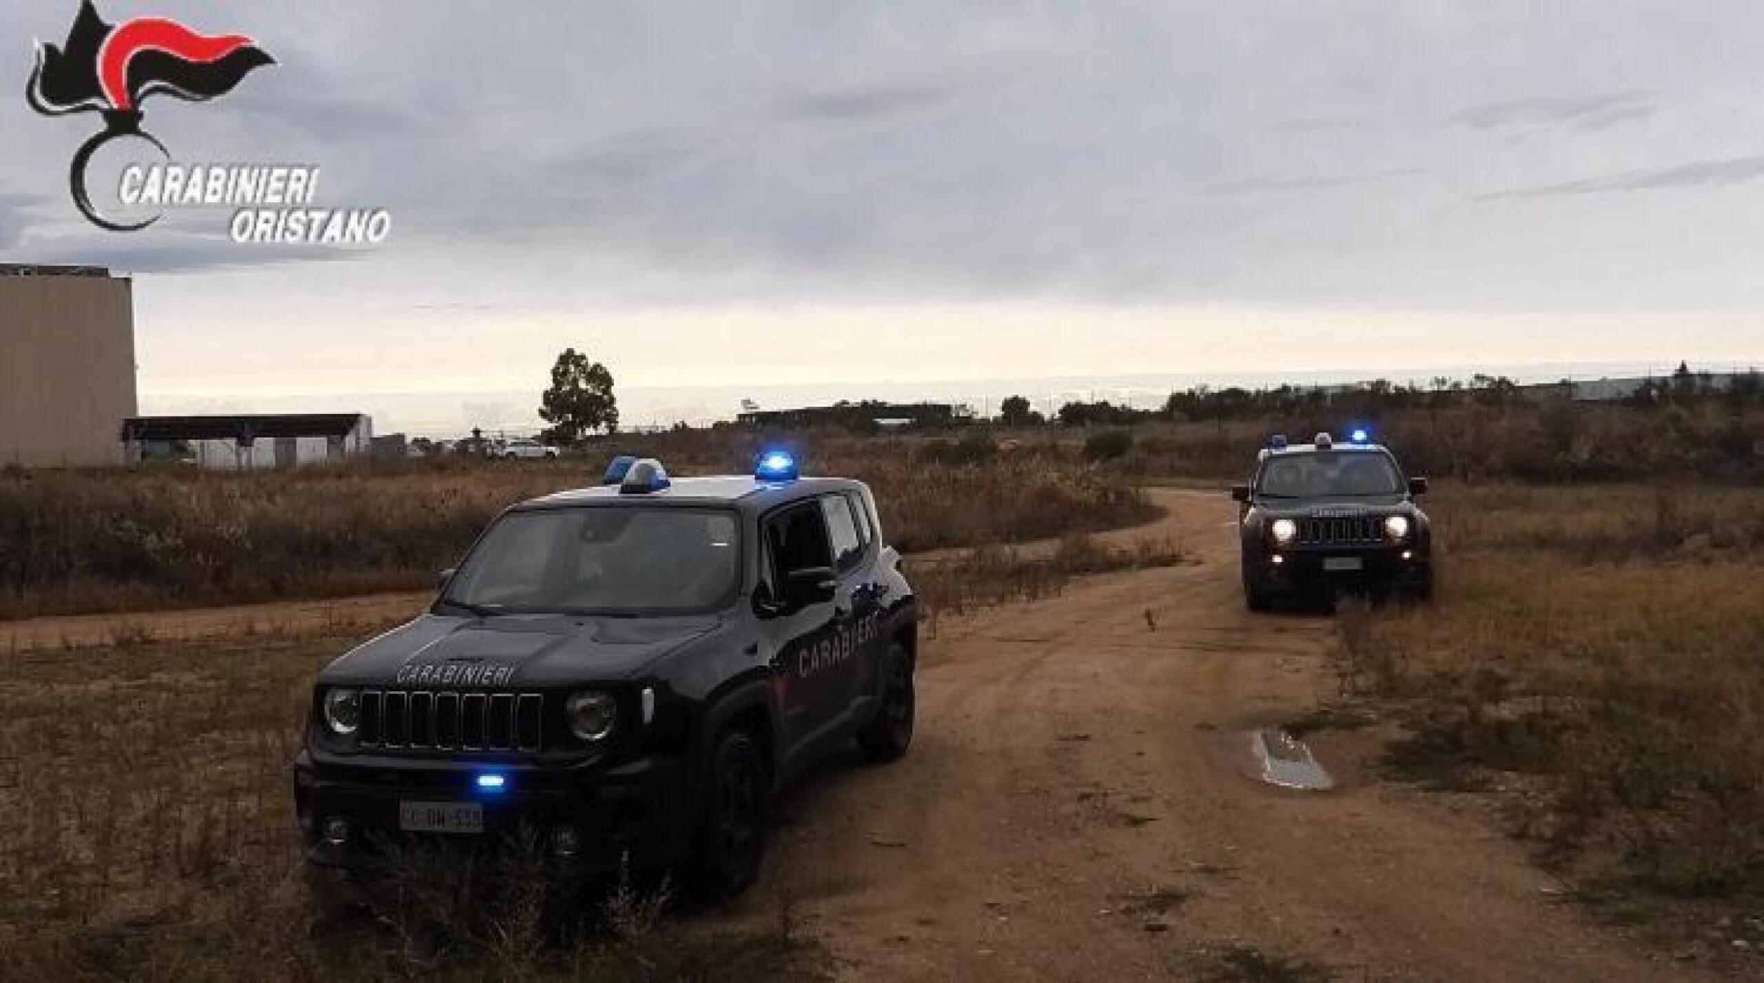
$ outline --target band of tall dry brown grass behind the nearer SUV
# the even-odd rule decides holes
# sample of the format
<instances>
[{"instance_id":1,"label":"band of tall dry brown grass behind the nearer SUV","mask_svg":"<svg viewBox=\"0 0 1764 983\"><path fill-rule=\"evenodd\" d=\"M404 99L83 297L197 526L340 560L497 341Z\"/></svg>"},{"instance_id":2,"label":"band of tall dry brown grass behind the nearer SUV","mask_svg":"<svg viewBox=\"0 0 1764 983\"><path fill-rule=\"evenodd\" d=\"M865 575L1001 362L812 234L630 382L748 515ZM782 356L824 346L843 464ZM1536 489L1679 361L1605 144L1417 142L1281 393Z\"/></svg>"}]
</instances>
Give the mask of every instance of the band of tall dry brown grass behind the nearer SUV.
<instances>
[{"instance_id":1,"label":"band of tall dry brown grass behind the nearer SUV","mask_svg":"<svg viewBox=\"0 0 1764 983\"><path fill-rule=\"evenodd\" d=\"M921 459L917 448L829 439L808 468L870 482L903 551L1102 529L1152 512L1136 489L1078 462L963 464ZM739 446L704 461L688 454L679 468L744 469L744 455ZM501 508L589 484L589 469L598 459L594 468L460 459L254 475L0 473L0 618L427 588Z\"/></svg>"}]
</instances>

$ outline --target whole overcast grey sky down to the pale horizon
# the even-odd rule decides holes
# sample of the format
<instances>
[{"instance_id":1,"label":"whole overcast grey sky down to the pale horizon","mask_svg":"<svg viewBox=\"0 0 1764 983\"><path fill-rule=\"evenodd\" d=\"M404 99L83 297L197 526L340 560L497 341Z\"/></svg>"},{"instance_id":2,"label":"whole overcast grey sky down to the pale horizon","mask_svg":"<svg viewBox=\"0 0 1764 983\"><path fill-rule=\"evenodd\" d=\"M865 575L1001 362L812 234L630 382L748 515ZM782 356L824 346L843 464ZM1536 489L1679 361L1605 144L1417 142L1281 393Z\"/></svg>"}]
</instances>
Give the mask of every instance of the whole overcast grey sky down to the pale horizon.
<instances>
[{"instance_id":1,"label":"whole overcast grey sky down to the pale horizon","mask_svg":"<svg viewBox=\"0 0 1764 983\"><path fill-rule=\"evenodd\" d=\"M23 99L0 258L134 274L148 397L1764 364L1764 5L104 0L277 65L173 159L323 168L377 249L86 226ZM4 92L12 92L7 97Z\"/></svg>"}]
</instances>

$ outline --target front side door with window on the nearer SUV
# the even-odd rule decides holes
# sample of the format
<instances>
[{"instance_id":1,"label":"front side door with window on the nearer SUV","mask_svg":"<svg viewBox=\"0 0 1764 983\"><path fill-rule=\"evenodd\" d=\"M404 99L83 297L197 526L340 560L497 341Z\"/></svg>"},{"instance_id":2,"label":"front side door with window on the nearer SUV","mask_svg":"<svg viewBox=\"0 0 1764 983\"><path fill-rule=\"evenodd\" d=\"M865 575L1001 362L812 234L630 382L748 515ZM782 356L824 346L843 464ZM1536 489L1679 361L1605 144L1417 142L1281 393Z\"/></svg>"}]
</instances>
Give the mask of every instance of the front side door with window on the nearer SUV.
<instances>
[{"instance_id":1,"label":"front side door with window on the nearer SUV","mask_svg":"<svg viewBox=\"0 0 1764 983\"><path fill-rule=\"evenodd\" d=\"M843 709L834 679L841 621L838 593L813 602L790 602L787 597L792 570L833 567L820 503L806 499L767 514L762 542L771 595L766 642L787 745L794 752L826 731Z\"/></svg>"}]
</instances>

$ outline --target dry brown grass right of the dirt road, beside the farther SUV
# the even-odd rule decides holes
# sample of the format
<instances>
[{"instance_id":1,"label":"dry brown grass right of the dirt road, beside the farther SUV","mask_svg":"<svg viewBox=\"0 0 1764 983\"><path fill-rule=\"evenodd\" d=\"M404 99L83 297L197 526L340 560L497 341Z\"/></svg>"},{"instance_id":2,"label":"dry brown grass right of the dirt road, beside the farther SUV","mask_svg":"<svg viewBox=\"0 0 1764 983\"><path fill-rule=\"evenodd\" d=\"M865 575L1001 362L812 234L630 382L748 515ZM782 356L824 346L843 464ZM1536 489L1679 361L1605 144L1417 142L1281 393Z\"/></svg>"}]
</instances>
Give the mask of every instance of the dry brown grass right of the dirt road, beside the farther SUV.
<instances>
[{"instance_id":1,"label":"dry brown grass right of the dirt road, beside the farther SUV","mask_svg":"<svg viewBox=\"0 0 1764 983\"><path fill-rule=\"evenodd\" d=\"M1764 496L1452 487L1432 607L1349 612L1344 688L1394 762L1499 785L1584 884L1764 900Z\"/></svg>"}]
</instances>

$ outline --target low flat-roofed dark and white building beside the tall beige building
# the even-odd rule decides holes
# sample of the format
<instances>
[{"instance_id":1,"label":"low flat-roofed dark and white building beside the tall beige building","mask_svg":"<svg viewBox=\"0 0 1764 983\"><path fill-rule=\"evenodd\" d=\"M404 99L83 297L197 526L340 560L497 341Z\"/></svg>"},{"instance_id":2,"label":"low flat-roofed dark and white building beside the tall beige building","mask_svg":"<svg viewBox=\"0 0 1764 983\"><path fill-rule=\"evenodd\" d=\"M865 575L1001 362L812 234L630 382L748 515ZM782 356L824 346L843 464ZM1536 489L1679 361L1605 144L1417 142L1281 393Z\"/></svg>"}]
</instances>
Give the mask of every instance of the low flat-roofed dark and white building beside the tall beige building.
<instances>
[{"instance_id":1,"label":"low flat-roofed dark and white building beside the tall beige building","mask_svg":"<svg viewBox=\"0 0 1764 983\"><path fill-rule=\"evenodd\" d=\"M178 459L215 471L296 468L372 454L374 418L365 413L131 416L122 422L122 441L131 461Z\"/></svg>"}]
</instances>

